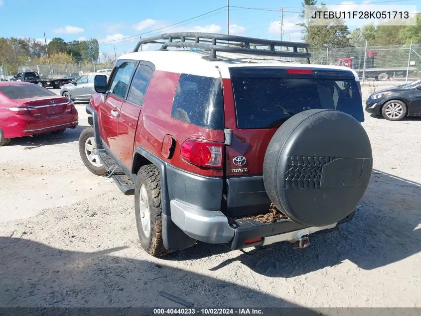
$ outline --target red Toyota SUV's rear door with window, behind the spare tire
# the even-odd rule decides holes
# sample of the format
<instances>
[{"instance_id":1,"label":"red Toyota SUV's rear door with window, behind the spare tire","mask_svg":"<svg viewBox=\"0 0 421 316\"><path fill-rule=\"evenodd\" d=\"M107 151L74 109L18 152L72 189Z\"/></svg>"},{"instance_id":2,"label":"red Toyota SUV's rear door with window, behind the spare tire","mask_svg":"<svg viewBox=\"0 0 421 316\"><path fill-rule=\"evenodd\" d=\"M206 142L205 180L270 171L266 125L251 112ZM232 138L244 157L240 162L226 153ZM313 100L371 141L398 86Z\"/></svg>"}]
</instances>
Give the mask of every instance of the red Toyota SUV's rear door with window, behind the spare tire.
<instances>
[{"instance_id":1,"label":"red Toyota SUV's rear door with window, behind the spare tire","mask_svg":"<svg viewBox=\"0 0 421 316\"><path fill-rule=\"evenodd\" d=\"M232 130L232 143L225 151L231 215L268 210L259 210L259 204L262 207L268 202L263 161L272 136L289 117L308 109L328 108L364 120L359 83L352 72L291 69L230 67L231 79L223 79L225 128ZM256 201L255 207L246 207L248 199Z\"/></svg>"}]
</instances>

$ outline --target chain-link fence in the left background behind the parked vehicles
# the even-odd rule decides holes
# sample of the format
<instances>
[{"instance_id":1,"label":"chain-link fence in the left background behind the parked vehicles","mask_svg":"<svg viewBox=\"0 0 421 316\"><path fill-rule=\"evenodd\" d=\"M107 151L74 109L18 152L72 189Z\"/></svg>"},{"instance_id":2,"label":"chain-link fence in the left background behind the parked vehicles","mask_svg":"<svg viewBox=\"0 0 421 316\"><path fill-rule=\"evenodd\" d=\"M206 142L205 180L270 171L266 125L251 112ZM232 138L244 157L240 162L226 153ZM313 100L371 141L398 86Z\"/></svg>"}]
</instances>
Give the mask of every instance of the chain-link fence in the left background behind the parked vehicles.
<instances>
[{"instance_id":1,"label":"chain-link fence in the left background behind the parked vehicles","mask_svg":"<svg viewBox=\"0 0 421 316\"><path fill-rule=\"evenodd\" d=\"M75 77L85 72L96 72L99 69L110 69L113 63L68 63L46 65L25 65L17 67L17 72L36 71L41 78L57 79Z\"/></svg>"}]
</instances>

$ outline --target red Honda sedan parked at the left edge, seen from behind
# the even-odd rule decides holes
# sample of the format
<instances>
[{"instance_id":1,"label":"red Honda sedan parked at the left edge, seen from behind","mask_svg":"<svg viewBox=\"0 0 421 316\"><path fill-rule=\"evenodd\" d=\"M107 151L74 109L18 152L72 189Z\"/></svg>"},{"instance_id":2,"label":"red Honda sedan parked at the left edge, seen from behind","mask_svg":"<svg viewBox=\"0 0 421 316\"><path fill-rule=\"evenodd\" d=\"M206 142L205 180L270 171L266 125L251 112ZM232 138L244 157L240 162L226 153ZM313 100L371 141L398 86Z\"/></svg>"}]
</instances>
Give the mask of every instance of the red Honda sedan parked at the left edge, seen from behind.
<instances>
[{"instance_id":1,"label":"red Honda sedan parked at the left edge, seen from behind","mask_svg":"<svg viewBox=\"0 0 421 316\"><path fill-rule=\"evenodd\" d=\"M73 101L33 83L0 82L0 146L11 138L62 133L78 125Z\"/></svg>"}]
</instances>

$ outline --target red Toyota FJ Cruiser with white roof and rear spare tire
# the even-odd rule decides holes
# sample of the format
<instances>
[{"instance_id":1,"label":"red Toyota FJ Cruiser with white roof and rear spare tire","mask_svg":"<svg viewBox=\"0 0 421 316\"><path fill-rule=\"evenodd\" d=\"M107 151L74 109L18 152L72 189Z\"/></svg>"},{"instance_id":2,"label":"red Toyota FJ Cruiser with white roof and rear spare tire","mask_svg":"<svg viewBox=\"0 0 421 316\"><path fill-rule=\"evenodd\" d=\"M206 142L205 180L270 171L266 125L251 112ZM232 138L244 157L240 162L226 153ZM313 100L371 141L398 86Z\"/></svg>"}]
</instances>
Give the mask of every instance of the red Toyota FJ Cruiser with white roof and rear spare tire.
<instances>
[{"instance_id":1,"label":"red Toyota FJ Cruiser with white roof and rear spare tire","mask_svg":"<svg viewBox=\"0 0 421 316\"><path fill-rule=\"evenodd\" d=\"M162 46L139 52L142 43ZM80 154L135 195L147 253L197 240L303 248L353 217L373 164L358 75L280 58L308 60L307 47L170 33L142 39L108 82L95 77Z\"/></svg>"}]
</instances>

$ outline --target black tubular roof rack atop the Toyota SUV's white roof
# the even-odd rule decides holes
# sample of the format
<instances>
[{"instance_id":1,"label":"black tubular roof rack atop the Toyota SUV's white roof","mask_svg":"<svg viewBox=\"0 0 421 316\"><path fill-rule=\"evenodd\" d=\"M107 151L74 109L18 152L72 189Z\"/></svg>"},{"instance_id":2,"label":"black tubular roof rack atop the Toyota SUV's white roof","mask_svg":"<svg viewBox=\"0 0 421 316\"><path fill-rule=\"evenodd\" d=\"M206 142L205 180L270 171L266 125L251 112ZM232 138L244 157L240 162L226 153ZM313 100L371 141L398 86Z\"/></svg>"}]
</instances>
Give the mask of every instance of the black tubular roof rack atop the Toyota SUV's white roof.
<instances>
[{"instance_id":1,"label":"black tubular roof rack atop the Toyota SUV's white roof","mask_svg":"<svg viewBox=\"0 0 421 316\"><path fill-rule=\"evenodd\" d=\"M217 51L263 56L307 58L308 63L310 63L309 58L311 56L308 52L308 43L197 32L166 33L142 38L133 52L139 51L140 45L146 43L162 44L159 48L160 50L166 50L168 47L193 47L210 50L210 60L217 59ZM266 46L267 48L258 48L259 46ZM285 50L275 50L275 47L277 46L280 48L285 47ZM290 51L290 48L292 48L292 51ZM298 48L303 48L304 52L298 52Z\"/></svg>"}]
</instances>

